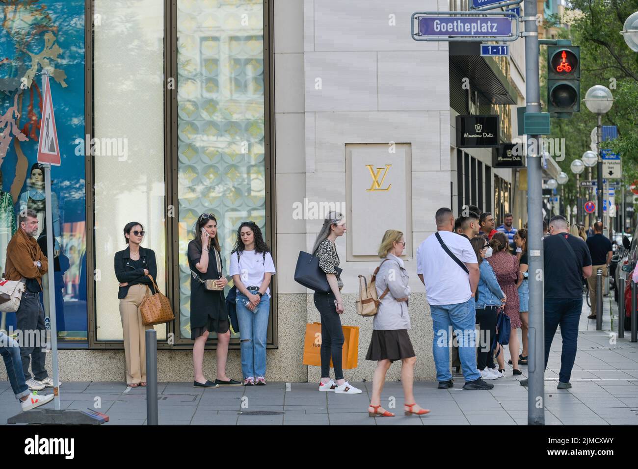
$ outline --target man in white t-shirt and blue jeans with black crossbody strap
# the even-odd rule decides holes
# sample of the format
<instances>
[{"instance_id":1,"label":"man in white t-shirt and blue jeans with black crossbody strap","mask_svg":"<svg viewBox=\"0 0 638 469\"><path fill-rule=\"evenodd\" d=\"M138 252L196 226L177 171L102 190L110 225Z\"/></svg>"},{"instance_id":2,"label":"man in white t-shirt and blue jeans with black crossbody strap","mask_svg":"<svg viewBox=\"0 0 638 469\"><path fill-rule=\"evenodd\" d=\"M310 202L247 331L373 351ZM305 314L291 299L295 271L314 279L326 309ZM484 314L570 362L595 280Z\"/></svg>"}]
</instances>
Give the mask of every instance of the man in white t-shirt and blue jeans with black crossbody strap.
<instances>
[{"instance_id":1,"label":"man in white t-shirt and blue jeans with black crossbody strap","mask_svg":"<svg viewBox=\"0 0 638 469\"><path fill-rule=\"evenodd\" d=\"M466 237L454 233L454 214L450 209L436 211L436 230L417 250L417 274L426 286L432 313L438 387L454 387L450 373L454 331L465 378L463 389L492 389L493 384L480 378L476 361L474 292L480 277L477 255Z\"/></svg>"}]
</instances>

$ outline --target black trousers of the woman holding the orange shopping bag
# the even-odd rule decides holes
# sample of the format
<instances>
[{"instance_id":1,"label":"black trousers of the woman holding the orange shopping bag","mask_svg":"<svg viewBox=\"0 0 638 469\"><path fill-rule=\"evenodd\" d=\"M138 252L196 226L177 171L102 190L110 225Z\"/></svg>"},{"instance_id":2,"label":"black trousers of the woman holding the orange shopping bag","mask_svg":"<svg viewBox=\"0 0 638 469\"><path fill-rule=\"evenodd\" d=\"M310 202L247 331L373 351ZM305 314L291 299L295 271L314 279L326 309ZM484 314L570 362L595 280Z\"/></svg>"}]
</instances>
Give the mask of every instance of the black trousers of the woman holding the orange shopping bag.
<instances>
[{"instance_id":1,"label":"black trousers of the woman holding the orange shopping bag","mask_svg":"<svg viewBox=\"0 0 638 469\"><path fill-rule=\"evenodd\" d=\"M334 304L334 294L315 293L315 307L321 315L321 377L330 378L330 357L334 366L334 378L343 380L341 357L343 355L343 329L341 316Z\"/></svg>"}]
</instances>

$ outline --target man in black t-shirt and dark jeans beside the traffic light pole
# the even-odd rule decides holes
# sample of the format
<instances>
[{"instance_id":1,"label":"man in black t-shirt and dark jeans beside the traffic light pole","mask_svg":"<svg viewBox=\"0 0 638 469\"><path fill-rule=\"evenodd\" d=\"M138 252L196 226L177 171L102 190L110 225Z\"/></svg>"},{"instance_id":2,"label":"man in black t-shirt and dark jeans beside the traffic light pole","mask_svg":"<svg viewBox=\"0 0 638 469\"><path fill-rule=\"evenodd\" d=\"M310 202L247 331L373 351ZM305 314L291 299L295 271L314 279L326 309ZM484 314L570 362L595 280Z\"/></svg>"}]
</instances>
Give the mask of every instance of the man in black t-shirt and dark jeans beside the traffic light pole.
<instances>
[{"instance_id":1,"label":"man in black t-shirt and dark jeans beside the traffic light pole","mask_svg":"<svg viewBox=\"0 0 638 469\"><path fill-rule=\"evenodd\" d=\"M582 278L591 276L590 250L581 238L568 232L567 220L554 216L543 239L545 285L545 368L554 334L560 324L563 338L558 389L572 387L578 323L582 311ZM526 386L528 380L521 381Z\"/></svg>"}]
</instances>

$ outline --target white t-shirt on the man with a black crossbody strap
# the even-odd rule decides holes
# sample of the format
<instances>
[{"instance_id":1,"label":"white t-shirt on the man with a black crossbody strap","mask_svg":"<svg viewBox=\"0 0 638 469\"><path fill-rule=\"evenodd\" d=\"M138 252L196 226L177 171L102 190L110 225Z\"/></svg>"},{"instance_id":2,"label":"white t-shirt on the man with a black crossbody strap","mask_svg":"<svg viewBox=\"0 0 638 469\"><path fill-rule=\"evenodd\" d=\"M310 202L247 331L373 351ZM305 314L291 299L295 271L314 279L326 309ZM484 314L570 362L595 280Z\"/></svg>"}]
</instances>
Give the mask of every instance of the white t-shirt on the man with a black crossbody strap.
<instances>
[{"instance_id":1,"label":"white t-shirt on the man with a black crossbody strap","mask_svg":"<svg viewBox=\"0 0 638 469\"><path fill-rule=\"evenodd\" d=\"M461 262L479 264L466 237L450 231L440 231L438 234ZM417 249L417 274L423 274L429 304L463 303L472 295L470 276L443 250L434 234Z\"/></svg>"}]
</instances>

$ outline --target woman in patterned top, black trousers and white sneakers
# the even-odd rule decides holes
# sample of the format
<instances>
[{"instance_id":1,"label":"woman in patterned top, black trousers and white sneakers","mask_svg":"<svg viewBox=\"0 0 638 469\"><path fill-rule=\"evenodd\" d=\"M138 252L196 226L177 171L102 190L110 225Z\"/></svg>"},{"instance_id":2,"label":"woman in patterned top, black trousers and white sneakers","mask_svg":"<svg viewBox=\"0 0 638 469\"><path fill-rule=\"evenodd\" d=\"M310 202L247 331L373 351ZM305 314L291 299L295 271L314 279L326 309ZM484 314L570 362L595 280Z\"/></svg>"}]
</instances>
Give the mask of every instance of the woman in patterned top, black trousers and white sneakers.
<instances>
[{"instance_id":1,"label":"woman in patterned top, black trousers and white sneakers","mask_svg":"<svg viewBox=\"0 0 638 469\"><path fill-rule=\"evenodd\" d=\"M341 360L343 355L343 299L341 288L343 281L337 277L339 256L334 242L346 232L346 220L339 212L329 212L313 246L313 255L319 258L319 267L325 272L330 285L330 292L315 292L315 307L321 315L321 382L319 391L334 391L336 394L361 394L343 378ZM334 366L334 378L330 379L330 357Z\"/></svg>"}]
</instances>

